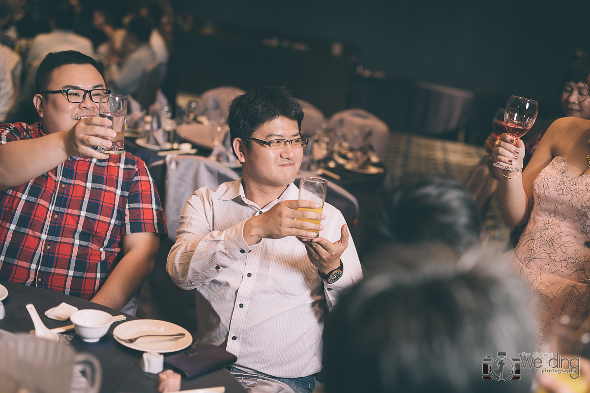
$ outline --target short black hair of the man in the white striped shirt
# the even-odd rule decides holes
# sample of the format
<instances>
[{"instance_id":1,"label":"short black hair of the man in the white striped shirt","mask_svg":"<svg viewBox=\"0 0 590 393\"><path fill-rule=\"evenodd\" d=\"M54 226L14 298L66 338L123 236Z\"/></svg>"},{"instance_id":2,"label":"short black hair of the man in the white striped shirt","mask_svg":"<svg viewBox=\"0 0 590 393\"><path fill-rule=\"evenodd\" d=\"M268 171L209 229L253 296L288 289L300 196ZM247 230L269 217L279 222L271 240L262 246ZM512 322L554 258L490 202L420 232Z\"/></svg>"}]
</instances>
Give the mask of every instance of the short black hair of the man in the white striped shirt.
<instances>
[{"instance_id":1,"label":"short black hair of the man in the white striped shirt","mask_svg":"<svg viewBox=\"0 0 590 393\"><path fill-rule=\"evenodd\" d=\"M248 138L255 130L281 116L295 120L301 132L303 109L285 87L261 87L235 97L227 119L232 145L239 137L245 148L250 149Z\"/></svg>"}]
</instances>

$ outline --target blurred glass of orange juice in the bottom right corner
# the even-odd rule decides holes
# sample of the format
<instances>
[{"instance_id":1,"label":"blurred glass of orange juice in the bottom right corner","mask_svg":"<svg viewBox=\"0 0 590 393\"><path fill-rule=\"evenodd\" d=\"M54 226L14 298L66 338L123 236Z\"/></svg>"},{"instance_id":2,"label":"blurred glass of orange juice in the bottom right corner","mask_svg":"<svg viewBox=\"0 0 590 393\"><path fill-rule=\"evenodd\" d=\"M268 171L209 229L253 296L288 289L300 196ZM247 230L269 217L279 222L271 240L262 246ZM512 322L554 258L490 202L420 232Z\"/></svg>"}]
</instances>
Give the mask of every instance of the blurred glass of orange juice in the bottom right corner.
<instances>
[{"instance_id":1,"label":"blurred glass of orange juice in the bottom right corner","mask_svg":"<svg viewBox=\"0 0 590 393\"><path fill-rule=\"evenodd\" d=\"M587 392L590 382L588 375L580 372L583 367L580 363L588 362L589 343L590 323L561 316L552 323L543 351L550 353L552 358L543 361L544 367L539 372L555 378L572 392ZM537 393L546 393L546 390L539 388Z\"/></svg>"}]
</instances>

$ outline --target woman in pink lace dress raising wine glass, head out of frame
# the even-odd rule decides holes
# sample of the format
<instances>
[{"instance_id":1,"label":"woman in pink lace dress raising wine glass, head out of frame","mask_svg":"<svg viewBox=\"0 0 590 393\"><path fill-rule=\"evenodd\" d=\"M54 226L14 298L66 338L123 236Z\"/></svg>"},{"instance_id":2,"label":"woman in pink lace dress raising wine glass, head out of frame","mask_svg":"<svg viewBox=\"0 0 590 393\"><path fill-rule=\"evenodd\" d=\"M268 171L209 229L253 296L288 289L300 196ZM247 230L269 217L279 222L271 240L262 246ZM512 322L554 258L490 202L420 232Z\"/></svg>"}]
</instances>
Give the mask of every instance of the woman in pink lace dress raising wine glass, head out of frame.
<instances>
[{"instance_id":1,"label":"woman in pink lace dress raising wine glass, head out of frame","mask_svg":"<svg viewBox=\"0 0 590 393\"><path fill-rule=\"evenodd\" d=\"M504 133L494 159L522 166L525 145ZM560 315L590 314L590 120L563 117L549 127L523 171L503 171L502 217L527 223L510 259L537 295L541 338Z\"/></svg>"}]
</instances>

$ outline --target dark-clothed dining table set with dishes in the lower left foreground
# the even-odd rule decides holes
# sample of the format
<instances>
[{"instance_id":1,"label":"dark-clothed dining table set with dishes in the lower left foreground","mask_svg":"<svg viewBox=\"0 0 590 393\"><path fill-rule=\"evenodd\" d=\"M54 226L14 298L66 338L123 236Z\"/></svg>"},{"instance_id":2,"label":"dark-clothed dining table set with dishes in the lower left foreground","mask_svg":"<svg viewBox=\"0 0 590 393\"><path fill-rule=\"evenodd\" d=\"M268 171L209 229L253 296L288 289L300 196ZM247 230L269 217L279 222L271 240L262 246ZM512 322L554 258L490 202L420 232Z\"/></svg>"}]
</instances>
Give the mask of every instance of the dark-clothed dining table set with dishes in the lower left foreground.
<instances>
[{"instance_id":1,"label":"dark-clothed dining table set with dishes in the lower left foreground","mask_svg":"<svg viewBox=\"0 0 590 393\"><path fill-rule=\"evenodd\" d=\"M35 306L42 322L50 329L71 325L70 320L61 322L49 319L44 315L46 310L58 306L62 302L71 304L71 306L77 307L78 309L103 310L113 316L125 315L126 321L137 319L135 316L126 315L109 307L67 294L5 281L0 281L0 284L8 290L8 297L2 300L2 303L4 303L5 317L4 319L0 319L0 329L7 330L8 332L30 332L30 330L34 329L31 317L25 308L25 305L28 303L32 303ZM72 336L70 345L73 345L76 351L91 353L99 359L103 368L103 381L100 389L102 393L158 392L156 386L158 374L148 374L139 368L139 361L142 358L143 352L127 348L113 338L113 329L120 325L120 323L123 322L114 322L109 332L95 343L84 342L74 330L70 330L65 334ZM165 355L169 354L166 353ZM245 389L242 388L240 383L226 369L219 369L191 379L190 381L182 380L182 390L219 386L225 387L226 393L245 392Z\"/></svg>"}]
</instances>

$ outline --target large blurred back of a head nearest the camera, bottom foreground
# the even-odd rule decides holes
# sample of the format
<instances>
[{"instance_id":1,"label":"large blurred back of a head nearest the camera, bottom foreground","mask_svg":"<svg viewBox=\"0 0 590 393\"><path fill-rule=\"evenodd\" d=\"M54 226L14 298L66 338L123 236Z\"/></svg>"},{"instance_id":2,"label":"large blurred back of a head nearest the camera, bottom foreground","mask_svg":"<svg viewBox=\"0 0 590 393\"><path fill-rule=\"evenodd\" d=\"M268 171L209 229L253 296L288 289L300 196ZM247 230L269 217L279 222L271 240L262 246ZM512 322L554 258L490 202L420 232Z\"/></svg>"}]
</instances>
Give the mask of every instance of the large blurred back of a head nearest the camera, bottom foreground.
<instances>
[{"instance_id":1,"label":"large blurred back of a head nearest the camera, bottom foreground","mask_svg":"<svg viewBox=\"0 0 590 393\"><path fill-rule=\"evenodd\" d=\"M523 283L495 260L460 267L415 251L414 269L360 281L326 317L326 392L529 392L530 369L519 381L482 378L487 356L535 348Z\"/></svg>"}]
</instances>

